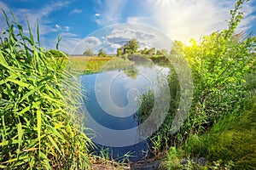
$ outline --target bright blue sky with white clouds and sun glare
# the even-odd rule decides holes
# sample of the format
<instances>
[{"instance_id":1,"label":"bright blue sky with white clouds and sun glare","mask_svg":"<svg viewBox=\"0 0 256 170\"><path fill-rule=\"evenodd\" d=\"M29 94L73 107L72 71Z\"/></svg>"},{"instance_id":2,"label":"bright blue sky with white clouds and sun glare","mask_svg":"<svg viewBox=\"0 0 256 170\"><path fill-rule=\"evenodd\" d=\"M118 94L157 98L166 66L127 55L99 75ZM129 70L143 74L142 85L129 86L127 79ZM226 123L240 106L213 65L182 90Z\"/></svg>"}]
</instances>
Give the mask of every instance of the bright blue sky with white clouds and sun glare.
<instances>
[{"instance_id":1,"label":"bright blue sky with white clouds and sun glare","mask_svg":"<svg viewBox=\"0 0 256 170\"><path fill-rule=\"evenodd\" d=\"M234 3L235 0L0 0L0 8L8 14L11 8L25 33L28 32L26 20L34 32L38 23L40 42L45 48L55 48L60 35L60 49L68 54L78 54L86 47L109 42L110 37L115 41L137 37L138 31L143 40L147 37L152 42L157 34L154 29L172 40L189 44L190 38L200 40L203 35L227 28ZM245 31L256 35L255 8L256 0L243 5L244 19L236 29L237 33ZM125 24L126 28L119 24ZM137 29L129 24L145 27ZM106 26L113 29L105 32ZM5 28L1 13L0 31ZM101 38L96 37L98 34ZM113 48L119 46L112 43ZM80 48L75 50L75 47Z\"/></svg>"}]
</instances>

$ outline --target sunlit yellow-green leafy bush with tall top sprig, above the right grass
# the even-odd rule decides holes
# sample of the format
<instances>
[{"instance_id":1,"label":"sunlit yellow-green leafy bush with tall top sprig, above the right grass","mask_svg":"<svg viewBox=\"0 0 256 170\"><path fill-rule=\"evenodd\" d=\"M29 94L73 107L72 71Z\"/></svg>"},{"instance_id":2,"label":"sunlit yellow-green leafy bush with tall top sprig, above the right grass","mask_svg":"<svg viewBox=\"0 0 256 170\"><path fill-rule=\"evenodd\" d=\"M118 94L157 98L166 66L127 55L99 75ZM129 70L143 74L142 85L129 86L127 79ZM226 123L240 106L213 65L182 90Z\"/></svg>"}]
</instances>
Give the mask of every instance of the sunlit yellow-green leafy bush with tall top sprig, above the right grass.
<instances>
[{"instance_id":1,"label":"sunlit yellow-green leafy bush with tall top sprig, above the right grass","mask_svg":"<svg viewBox=\"0 0 256 170\"><path fill-rule=\"evenodd\" d=\"M195 86L193 108L183 129L187 132L204 132L219 117L239 109L236 103L245 99L244 77L253 69L256 39L233 37L244 2L239 0L230 12L229 30L213 32L201 42L192 39L191 46L184 47Z\"/></svg>"}]
</instances>

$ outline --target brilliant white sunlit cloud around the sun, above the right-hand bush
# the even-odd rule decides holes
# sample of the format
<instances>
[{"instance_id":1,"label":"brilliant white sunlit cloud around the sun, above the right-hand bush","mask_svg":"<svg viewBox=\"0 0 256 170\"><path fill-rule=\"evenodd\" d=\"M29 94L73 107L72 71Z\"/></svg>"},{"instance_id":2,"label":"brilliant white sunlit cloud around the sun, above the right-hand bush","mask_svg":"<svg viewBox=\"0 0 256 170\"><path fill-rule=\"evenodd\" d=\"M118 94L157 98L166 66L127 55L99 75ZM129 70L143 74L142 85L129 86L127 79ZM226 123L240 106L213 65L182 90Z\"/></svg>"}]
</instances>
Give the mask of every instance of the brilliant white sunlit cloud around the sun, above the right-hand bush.
<instances>
[{"instance_id":1,"label":"brilliant white sunlit cloud around the sun, above the right-hand bush","mask_svg":"<svg viewBox=\"0 0 256 170\"><path fill-rule=\"evenodd\" d=\"M236 1L148 0L143 3L148 9L147 17L128 17L127 22L155 26L172 40L189 42L192 37L199 39L202 35L226 28L234 3ZM252 14L253 7L247 4L242 10L247 11L247 15ZM254 16L249 16L242 20L237 30L248 28L253 19Z\"/></svg>"}]
</instances>

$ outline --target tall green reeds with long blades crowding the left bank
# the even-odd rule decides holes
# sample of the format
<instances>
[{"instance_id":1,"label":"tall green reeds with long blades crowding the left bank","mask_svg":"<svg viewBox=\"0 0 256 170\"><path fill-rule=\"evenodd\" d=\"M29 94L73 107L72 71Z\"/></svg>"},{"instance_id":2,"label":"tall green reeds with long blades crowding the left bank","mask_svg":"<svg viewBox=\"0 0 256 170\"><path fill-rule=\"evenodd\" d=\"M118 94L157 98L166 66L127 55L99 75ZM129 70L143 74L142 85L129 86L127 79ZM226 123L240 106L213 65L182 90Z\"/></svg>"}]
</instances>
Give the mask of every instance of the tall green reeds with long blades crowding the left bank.
<instances>
[{"instance_id":1,"label":"tall green reeds with long blades crowding the left bank","mask_svg":"<svg viewBox=\"0 0 256 170\"><path fill-rule=\"evenodd\" d=\"M79 85L3 11L0 37L0 168L84 169L90 139L81 133ZM15 31L17 30L17 31ZM66 56L64 54L64 56ZM67 57L67 56L66 56Z\"/></svg>"}]
</instances>

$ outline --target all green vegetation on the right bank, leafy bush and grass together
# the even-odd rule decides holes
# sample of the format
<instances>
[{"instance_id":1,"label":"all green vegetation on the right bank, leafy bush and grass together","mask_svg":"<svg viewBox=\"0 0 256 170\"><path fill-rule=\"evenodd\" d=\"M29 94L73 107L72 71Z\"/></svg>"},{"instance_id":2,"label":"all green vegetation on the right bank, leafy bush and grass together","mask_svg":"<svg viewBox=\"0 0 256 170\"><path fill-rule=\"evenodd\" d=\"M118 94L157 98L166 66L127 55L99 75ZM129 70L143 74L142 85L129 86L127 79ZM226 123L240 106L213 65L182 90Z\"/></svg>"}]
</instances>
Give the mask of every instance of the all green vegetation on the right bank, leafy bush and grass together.
<instances>
[{"instance_id":1,"label":"all green vegetation on the right bank, leafy bush and grass together","mask_svg":"<svg viewBox=\"0 0 256 170\"><path fill-rule=\"evenodd\" d=\"M184 57L189 62L194 94L189 116L183 127L179 132L170 134L177 102L182 93L179 85L177 86L177 68L171 63L172 75L169 75L169 86L173 102L166 121L151 137L153 153L157 155L160 151L168 150L167 161L164 161L164 167L167 169L186 168L181 166L182 156L190 156L191 159L193 156L204 156L208 161L219 164L219 168L230 163L234 164L235 168L244 167L246 164L247 168L255 165L255 152L252 150L255 147L253 130L246 130L247 127L255 129L254 111L250 108L252 112L247 115L243 113L243 107L247 98L255 92L256 38L250 35L244 37L242 34L234 36L236 26L242 19L240 8L245 2L247 1L238 0L235 9L230 11L228 29L215 31L209 36L202 37L199 42L192 39L190 46L179 42L172 48L172 55L169 58L173 60ZM166 56L168 58L168 54ZM248 77L254 77L254 82ZM147 113L150 114L152 109L148 107L152 105L150 96L151 94L143 94L141 108L148 108L148 111L141 112L142 118L147 118ZM255 98L253 99L255 102ZM247 116L251 118L250 121L243 122L247 126L234 127L236 123L241 125L242 121L239 122L238 119ZM221 126L221 123L234 119L236 121L233 123ZM142 122L141 119L140 121ZM226 130L229 125L230 131ZM206 134L207 132L210 133ZM214 146L217 143L218 145Z\"/></svg>"}]
</instances>

